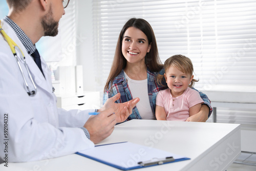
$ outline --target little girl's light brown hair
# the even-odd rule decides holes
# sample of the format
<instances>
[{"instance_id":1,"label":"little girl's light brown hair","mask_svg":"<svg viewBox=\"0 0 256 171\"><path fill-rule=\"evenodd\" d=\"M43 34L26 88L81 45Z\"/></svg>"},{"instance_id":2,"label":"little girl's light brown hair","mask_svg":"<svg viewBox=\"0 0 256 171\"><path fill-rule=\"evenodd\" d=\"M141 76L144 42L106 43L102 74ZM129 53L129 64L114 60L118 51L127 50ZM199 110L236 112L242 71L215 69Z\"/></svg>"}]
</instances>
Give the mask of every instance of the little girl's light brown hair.
<instances>
[{"instance_id":1,"label":"little girl's light brown hair","mask_svg":"<svg viewBox=\"0 0 256 171\"><path fill-rule=\"evenodd\" d=\"M166 59L164 62L164 72L166 73L170 67L175 67L183 73L188 74L189 76L192 76L194 72L192 61L184 55L174 55ZM166 86L166 84L163 84L163 81L164 75L159 74L157 76L157 82L162 86ZM197 81L199 80L192 79L188 87L193 87L194 83Z\"/></svg>"}]
</instances>

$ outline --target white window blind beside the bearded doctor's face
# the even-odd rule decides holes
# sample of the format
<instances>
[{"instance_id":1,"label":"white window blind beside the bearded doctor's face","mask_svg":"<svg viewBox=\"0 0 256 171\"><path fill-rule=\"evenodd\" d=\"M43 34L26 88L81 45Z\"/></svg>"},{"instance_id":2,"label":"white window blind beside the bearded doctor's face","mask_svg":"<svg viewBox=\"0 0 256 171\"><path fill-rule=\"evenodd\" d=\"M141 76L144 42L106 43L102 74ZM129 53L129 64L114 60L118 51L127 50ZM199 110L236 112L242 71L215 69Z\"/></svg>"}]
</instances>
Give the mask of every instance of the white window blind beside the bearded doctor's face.
<instances>
[{"instance_id":1,"label":"white window blind beside the bearded doctor's face","mask_svg":"<svg viewBox=\"0 0 256 171\"><path fill-rule=\"evenodd\" d=\"M59 21L58 35L42 37L36 44L39 53L54 70L58 66L76 65L76 18L76 1L70 1Z\"/></svg>"}]
</instances>

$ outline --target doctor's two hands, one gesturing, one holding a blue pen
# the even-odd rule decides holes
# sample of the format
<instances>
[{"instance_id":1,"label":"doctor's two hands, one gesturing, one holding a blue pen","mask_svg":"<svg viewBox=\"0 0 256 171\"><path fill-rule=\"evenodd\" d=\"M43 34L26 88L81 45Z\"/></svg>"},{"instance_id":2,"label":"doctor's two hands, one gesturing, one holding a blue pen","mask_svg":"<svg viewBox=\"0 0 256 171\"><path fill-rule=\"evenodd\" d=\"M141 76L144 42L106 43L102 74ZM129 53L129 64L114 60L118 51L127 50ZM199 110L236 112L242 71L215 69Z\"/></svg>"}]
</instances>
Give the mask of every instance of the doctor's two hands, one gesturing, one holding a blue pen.
<instances>
[{"instance_id":1,"label":"doctor's two hands, one gesturing, one holding a blue pen","mask_svg":"<svg viewBox=\"0 0 256 171\"><path fill-rule=\"evenodd\" d=\"M139 98L127 101L125 103L115 103L120 98L120 93L109 98L103 107L98 110L99 114L91 116L83 127L90 133L90 139L95 144L110 136L114 126L118 122L123 122L129 117L134 106L139 102Z\"/></svg>"}]
</instances>

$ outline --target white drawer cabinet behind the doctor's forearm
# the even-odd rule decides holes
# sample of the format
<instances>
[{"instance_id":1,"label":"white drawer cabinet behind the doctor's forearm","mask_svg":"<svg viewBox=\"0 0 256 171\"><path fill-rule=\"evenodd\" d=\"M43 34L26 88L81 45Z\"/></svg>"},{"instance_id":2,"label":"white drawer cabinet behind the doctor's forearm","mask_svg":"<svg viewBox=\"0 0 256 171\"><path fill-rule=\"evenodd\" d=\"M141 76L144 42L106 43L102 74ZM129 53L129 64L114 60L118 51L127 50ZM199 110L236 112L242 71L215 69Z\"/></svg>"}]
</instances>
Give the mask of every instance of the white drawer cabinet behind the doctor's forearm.
<instances>
[{"instance_id":1,"label":"white drawer cabinet behind the doctor's forearm","mask_svg":"<svg viewBox=\"0 0 256 171\"><path fill-rule=\"evenodd\" d=\"M57 107L65 110L71 109L99 109L99 92L83 92L79 94L60 94L57 96Z\"/></svg>"}]
</instances>

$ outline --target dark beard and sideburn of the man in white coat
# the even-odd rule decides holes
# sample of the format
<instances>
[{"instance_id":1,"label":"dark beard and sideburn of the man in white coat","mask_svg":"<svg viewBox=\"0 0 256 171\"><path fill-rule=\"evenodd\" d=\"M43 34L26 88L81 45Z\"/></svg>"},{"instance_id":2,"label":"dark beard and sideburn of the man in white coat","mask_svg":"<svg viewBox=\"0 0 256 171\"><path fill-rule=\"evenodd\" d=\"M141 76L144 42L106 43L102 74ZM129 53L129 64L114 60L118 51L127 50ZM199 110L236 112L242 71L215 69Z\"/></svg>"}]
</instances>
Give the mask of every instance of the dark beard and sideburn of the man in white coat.
<instances>
[{"instance_id":1,"label":"dark beard and sideburn of the man in white coat","mask_svg":"<svg viewBox=\"0 0 256 171\"><path fill-rule=\"evenodd\" d=\"M49 13L42 18L41 24L44 28L45 36L56 36L58 34L59 24L53 18L52 5L50 6Z\"/></svg>"}]
</instances>

